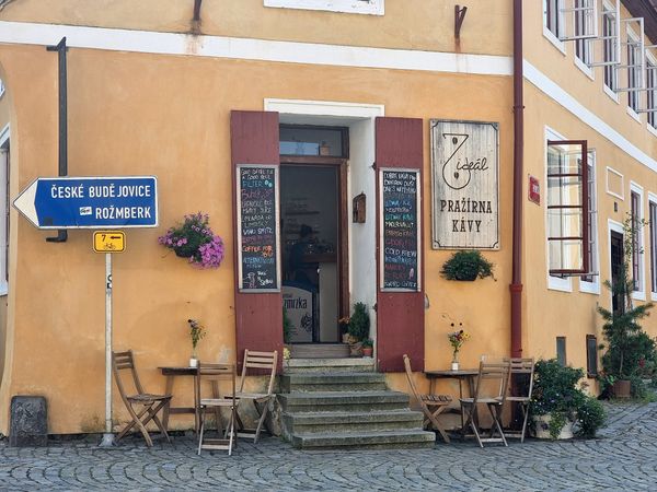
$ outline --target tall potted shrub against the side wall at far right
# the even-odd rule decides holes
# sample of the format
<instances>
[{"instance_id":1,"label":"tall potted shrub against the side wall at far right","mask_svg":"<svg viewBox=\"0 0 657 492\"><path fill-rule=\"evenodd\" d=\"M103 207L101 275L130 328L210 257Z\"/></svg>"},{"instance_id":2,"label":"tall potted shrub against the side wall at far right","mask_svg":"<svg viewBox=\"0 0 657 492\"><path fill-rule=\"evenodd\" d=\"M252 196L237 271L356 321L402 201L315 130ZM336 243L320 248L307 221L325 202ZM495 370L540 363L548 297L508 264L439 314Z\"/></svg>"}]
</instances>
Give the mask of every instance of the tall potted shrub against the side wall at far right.
<instances>
[{"instance_id":1,"label":"tall potted shrub against the side wall at far right","mask_svg":"<svg viewBox=\"0 0 657 492\"><path fill-rule=\"evenodd\" d=\"M620 266L615 282L604 281L604 286L611 292L612 297L622 300L616 311L609 311L598 306L598 313L602 316L604 324L602 332L607 340L607 352L602 355L602 367L606 377L613 377L611 386L607 386L607 394L612 393L616 398L630 398L632 394L645 391L643 382L638 375L639 360L643 355L655 351L655 344L642 330L639 320L649 316L653 303L634 306L632 292L634 291L634 279L631 278L631 265L635 243L633 238L637 229L643 226L643 221L625 219L623 223L624 244L623 262ZM643 253L643 251L639 251ZM604 382L603 382L604 383Z\"/></svg>"}]
</instances>

